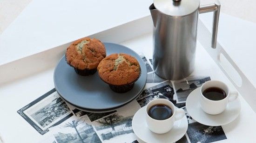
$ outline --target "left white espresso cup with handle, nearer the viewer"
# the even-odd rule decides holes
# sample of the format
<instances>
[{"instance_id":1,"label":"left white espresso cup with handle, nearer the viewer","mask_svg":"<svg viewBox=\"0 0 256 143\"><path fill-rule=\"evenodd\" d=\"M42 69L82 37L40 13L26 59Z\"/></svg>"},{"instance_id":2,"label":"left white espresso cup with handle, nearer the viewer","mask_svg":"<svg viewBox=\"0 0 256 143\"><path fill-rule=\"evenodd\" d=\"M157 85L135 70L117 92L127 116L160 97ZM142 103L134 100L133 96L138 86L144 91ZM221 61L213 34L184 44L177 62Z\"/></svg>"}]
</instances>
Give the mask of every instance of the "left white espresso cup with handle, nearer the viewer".
<instances>
[{"instance_id":1,"label":"left white espresso cup with handle, nearer the viewer","mask_svg":"<svg viewBox=\"0 0 256 143\"><path fill-rule=\"evenodd\" d=\"M172 116L164 120L156 120L148 115L148 111L155 105L165 105L171 108ZM170 131L175 121L182 119L185 116L183 109L175 108L174 104L167 99L154 99L146 106L146 122L150 131L157 134L163 134Z\"/></svg>"}]
</instances>

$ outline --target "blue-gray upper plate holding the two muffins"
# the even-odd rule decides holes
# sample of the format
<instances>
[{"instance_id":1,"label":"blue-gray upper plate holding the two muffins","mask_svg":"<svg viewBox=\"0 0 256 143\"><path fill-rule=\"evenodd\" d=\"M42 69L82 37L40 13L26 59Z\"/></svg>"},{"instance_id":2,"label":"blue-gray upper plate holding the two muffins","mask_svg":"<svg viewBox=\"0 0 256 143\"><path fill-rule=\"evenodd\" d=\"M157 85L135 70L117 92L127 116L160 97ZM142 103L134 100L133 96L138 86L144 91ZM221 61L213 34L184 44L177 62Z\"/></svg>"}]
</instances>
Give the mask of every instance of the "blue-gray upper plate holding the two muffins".
<instances>
[{"instance_id":1,"label":"blue-gray upper plate holding the two muffins","mask_svg":"<svg viewBox=\"0 0 256 143\"><path fill-rule=\"evenodd\" d=\"M135 99L146 85L147 69L141 57L133 50L120 44L103 43L107 55L126 53L134 56L141 66L141 76L127 93L115 93L102 81L96 72L94 75L81 76L75 73L65 59L65 55L54 70L54 85L61 97L69 103L88 110L108 110L121 107Z\"/></svg>"}]
</instances>

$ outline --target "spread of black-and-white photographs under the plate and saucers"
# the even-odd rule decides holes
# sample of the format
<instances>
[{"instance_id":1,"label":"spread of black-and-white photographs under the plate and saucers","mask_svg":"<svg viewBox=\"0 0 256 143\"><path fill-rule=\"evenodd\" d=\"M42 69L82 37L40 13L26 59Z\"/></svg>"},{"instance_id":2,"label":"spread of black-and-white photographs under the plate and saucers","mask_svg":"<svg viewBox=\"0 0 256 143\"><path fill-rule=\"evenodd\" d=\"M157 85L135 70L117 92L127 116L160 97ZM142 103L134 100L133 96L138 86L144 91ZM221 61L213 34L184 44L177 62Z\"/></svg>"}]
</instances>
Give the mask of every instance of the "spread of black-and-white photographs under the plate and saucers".
<instances>
[{"instance_id":1,"label":"spread of black-and-white photographs under the plate and saucers","mask_svg":"<svg viewBox=\"0 0 256 143\"><path fill-rule=\"evenodd\" d=\"M151 60L148 62L145 56L141 58L148 65L148 74L154 73ZM188 77L180 81L149 80L157 82L126 106L105 113L76 109L52 89L17 112L32 130L45 137L41 143L138 143L132 129L135 112L153 99L168 99L184 109L189 122L187 133L176 143L209 143L227 139L222 127L196 122L185 106L189 93L209 80L209 76Z\"/></svg>"}]
</instances>

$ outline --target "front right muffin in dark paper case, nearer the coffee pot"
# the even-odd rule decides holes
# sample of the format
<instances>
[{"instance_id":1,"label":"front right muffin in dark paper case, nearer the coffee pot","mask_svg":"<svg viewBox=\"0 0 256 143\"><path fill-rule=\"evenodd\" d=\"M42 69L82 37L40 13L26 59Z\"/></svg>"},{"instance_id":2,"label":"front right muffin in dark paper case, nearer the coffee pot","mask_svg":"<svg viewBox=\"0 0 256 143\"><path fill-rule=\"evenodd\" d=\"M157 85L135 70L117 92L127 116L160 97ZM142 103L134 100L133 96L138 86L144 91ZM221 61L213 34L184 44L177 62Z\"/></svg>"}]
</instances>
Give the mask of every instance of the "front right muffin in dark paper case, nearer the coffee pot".
<instances>
[{"instance_id":1,"label":"front right muffin in dark paper case, nearer the coffee pot","mask_svg":"<svg viewBox=\"0 0 256 143\"><path fill-rule=\"evenodd\" d=\"M116 93L125 93L134 87L141 75L139 62L128 54L111 54L104 58L97 70L101 80Z\"/></svg>"}]
</instances>

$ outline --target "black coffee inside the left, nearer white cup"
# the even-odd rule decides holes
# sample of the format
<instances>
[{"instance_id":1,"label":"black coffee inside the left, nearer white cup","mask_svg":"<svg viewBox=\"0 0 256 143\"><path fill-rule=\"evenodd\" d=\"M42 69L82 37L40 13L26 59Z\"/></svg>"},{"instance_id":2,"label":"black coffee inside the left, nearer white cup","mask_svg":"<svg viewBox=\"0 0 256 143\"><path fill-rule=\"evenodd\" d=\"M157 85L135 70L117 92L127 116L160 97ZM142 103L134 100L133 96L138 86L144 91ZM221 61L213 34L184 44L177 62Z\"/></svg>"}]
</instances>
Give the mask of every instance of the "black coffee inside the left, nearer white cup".
<instances>
[{"instance_id":1,"label":"black coffee inside the left, nearer white cup","mask_svg":"<svg viewBox=\"0 0 256 143\"><path fill-rule=\"evenodd\" d=\"M156 120L168 119L172 116L172 114L172 109L169 106L163 104L157 104L148 110L148 115Z\"/></svg>"}]
</instances>

